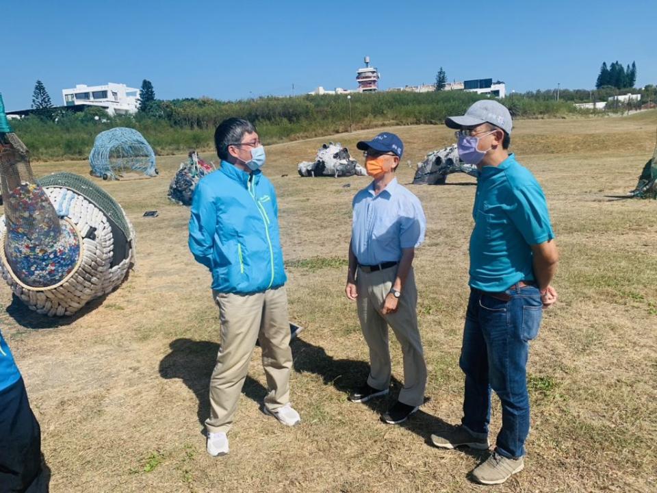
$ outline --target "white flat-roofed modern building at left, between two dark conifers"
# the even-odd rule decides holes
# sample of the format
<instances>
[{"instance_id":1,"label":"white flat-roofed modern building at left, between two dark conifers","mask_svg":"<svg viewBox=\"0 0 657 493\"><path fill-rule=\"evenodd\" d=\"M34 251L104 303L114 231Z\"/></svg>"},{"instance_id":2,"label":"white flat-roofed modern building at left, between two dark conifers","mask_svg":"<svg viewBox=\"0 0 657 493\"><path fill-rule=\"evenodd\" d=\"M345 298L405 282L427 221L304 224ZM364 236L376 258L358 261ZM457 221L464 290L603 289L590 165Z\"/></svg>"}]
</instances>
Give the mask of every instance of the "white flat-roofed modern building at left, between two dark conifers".
<instances>
[{"instance_id":1,"label":"white flat-roofed modern building at left, between two dark conifers","mask_svg":"<svg viewBox=\"0 0 657 493\"><path fill-rule=\"evenodd\" d=\"M139 109L139 89L125 84L110 82L104 86L86 86L78 84L73 89L62 90L64 105L99 106L107 110L110 116L115 114L134 114Z\"/></svg>"}]
</instances>

